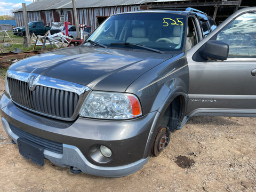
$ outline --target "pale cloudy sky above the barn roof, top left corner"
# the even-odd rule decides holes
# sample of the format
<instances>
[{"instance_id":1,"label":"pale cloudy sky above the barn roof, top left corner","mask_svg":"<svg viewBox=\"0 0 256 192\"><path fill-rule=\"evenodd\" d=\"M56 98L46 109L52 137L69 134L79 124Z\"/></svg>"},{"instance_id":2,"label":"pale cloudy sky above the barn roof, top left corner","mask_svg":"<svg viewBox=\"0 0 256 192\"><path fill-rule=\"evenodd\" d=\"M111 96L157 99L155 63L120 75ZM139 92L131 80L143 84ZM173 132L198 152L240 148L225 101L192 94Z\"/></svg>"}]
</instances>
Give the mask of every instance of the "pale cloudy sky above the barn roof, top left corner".
<instances>
[{"instance_id":1,"label":"pale cloudy sky above the barn roof, top left corner","mask_svg":"<svg viewBox=\"0 0 256 192\"><path fill-rule=\"evenodd\" d=\"M12 15L13 10L22 8L22 3L28 5L33 0L0 0L0 15Z\"/></svg>"}]
</instances>

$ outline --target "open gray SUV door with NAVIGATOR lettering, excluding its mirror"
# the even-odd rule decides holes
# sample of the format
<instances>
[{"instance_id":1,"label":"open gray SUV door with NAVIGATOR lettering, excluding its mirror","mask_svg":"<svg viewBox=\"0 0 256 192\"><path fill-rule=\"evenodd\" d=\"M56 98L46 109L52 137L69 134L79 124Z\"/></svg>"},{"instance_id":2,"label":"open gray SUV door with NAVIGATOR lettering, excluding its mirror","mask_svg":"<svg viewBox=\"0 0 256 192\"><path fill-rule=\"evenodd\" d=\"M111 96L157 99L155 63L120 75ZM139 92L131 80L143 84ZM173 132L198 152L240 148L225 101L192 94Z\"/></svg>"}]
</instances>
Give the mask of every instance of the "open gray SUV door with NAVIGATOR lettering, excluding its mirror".
<instances>
[{"instance_id":1,"label":"open gray SUV door with NAVIGATOR lettering, excluding its mirror","mask_svg":"<svg viewBox=\"0 0 256 192\"><path fill-rule=\"evenodd\" d=\"M238 11L187 53L187 116L256 116L256 10ZM209 40L229 45L226 61L204 60Z\"/></svg>"}]
</instances>

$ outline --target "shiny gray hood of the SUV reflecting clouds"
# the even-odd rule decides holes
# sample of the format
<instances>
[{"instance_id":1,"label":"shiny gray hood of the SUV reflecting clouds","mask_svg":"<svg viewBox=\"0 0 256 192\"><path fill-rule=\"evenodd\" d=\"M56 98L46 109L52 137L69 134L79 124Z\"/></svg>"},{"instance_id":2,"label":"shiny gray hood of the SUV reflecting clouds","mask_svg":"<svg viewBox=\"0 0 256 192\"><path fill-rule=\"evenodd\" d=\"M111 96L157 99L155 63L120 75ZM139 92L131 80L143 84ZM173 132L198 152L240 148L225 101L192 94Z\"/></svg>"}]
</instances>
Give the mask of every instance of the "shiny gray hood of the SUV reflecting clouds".
<instances>
[{"instance_id":1,"label":"shiny gray hood of the SUV reflecting clouds","mask_svg":"<svg viewBox=\"0 0 256 192\"><path fill-rule=\"evenodd\" d=\"M92 90L124 92L135 79L171 57L143 50L77 46L18 61L9 70L62 79Z\"/></svg>"}]
</instances>

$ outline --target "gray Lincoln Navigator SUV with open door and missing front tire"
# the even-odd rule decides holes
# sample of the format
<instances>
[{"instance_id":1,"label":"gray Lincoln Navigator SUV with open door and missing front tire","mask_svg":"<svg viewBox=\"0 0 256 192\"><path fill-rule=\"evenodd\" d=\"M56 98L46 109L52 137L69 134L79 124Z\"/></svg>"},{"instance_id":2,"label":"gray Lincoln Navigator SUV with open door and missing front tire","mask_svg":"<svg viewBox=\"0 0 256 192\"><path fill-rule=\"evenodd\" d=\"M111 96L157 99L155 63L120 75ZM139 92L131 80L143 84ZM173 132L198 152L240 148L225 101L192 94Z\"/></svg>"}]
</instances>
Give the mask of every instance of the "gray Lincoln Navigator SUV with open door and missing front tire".
<instances>
[{"instance_id":1,"label":"gray Lincoln Navigator SUV with open door and missing front tire","mask_svg":"<svg viewBox=\"0 0 256 192\"><path fill-rule=\"evenodd\" d=\"M39 165L138 171L190 116L255 116L255 20L255 7L217 29L193 9L115 14L83 45L9 68L4 129Z\"/></svg>"}]
</instances>

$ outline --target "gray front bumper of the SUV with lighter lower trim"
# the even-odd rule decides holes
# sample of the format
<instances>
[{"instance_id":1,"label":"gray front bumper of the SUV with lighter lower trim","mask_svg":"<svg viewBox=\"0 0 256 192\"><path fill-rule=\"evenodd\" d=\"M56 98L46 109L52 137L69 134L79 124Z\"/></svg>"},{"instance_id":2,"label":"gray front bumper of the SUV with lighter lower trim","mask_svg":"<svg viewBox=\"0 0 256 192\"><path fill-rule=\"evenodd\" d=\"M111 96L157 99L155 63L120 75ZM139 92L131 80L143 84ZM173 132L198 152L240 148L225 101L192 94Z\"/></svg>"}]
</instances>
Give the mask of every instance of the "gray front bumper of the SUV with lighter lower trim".
<instances>
[{"instance_id":1,"label":"gray front bumper of the SUV with lighter lower trim","mask_svg":"<svg viewBox=\"0 0 256 192\"><path fill-rule=\"evenodd\" d=\"M76 167L84 173L122 177L141 169L149 158L147 143L157 112L129 121L78 118L63 122L31 113L14 105L7 94L0 101L5 131L17 142L10 124L29 134L62 143L62 154L44 149L44 158L61 167ZM111 161L99 163L90 156L93 146L111 149Z\"/></svg>"}]
</instances>

